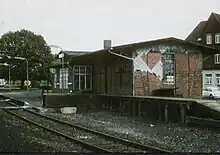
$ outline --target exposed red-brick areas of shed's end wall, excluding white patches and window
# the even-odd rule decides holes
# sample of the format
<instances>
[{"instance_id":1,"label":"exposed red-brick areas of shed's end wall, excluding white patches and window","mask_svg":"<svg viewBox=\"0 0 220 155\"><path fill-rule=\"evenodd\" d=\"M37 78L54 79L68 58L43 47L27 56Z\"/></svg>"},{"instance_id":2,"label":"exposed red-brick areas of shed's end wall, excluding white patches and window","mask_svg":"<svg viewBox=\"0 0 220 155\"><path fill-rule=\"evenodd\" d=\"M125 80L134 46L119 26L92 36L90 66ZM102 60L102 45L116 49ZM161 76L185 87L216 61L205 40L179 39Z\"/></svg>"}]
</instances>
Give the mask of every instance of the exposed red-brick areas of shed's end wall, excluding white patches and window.
<instances>
[{"instance_id":1,"label":"exposed red-brick areas of shed's end wall, excluding white patches and window","mask_svg":"<svg viewBox=\"0 0 220 155\"><path fill-rule=\"evenodd\" d=\"M184 47L184 49L188 48ZM185 51L183 48L176 48L176 85L165 85L162 79L154 74L135 71L135 95L151 95L155 89L176 87L176 94L181 94L183 97L201 97L202 52L192 48L189 48L188 53ZM161 52L150 51L148 54L143 54L142 59L152 69L161 59Z\"/></svg>"}]
</instances>

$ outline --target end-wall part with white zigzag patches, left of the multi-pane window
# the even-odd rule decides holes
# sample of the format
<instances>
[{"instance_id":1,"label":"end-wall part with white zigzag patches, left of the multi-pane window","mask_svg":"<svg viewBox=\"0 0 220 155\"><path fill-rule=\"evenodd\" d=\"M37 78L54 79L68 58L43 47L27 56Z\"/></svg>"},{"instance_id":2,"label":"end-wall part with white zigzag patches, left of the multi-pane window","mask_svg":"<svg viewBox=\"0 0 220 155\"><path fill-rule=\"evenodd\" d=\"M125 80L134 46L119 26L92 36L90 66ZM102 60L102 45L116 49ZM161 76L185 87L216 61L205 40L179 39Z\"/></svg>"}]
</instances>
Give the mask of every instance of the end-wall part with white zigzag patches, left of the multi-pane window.
<instances>
[{"instance_id":1,"label":"end-wall part with white zigzag patches, left of the multi-pane window","mask_svg":"<svg viewBox=\"0 0 220 155\"><path fill-rule=\"evenodd\" d=\"M160 48L160 47L159 47ZM150 95L161 86L163 67L158 47L140 48L134 57L135 95Z\"/></svg>"}]
</instances>

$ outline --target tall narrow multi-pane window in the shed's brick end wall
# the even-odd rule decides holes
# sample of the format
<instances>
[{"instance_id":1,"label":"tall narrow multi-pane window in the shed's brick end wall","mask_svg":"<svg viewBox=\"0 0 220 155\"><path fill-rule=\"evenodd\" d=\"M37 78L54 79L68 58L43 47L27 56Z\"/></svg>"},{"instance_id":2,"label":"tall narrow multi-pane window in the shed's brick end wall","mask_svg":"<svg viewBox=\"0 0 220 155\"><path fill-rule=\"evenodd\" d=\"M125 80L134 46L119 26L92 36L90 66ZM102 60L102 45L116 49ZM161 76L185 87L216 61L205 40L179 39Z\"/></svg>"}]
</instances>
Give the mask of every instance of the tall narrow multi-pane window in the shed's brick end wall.
<instances>
[{"instance_id":1,"label":"tall narrow multi-pane window in the shed's brick end wall","mask_svg":"<svg viewBox=\"0 0 220 155\"><path fill-rule=\"evenodd\" d=\"M164 53L163 61L163 81L166 84L174 84L174 54Z\"/></svg>"}]
</instances>

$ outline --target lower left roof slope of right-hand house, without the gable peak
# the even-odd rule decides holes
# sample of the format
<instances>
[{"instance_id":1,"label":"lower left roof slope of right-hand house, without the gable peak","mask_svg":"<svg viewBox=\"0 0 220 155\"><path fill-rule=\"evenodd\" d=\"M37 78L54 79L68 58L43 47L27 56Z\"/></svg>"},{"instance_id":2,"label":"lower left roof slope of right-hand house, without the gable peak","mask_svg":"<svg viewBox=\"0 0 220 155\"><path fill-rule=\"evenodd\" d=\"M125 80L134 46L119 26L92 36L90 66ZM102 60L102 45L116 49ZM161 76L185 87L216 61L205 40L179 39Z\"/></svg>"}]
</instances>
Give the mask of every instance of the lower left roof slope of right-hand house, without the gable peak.
<instances>
[{"instance_id":1,"label":"lower left roof slope of right-hand house, without the gable peak","mask_svg":"<svg viewBox=\"0 0 220 155\"><path fill-rule=\"evenodd\" d=\"M186 38L187 41L197 42L197 39L201 37L201 33L206 25L207 21L201 21L193 31Z\"/></svg>"}]
</instances>

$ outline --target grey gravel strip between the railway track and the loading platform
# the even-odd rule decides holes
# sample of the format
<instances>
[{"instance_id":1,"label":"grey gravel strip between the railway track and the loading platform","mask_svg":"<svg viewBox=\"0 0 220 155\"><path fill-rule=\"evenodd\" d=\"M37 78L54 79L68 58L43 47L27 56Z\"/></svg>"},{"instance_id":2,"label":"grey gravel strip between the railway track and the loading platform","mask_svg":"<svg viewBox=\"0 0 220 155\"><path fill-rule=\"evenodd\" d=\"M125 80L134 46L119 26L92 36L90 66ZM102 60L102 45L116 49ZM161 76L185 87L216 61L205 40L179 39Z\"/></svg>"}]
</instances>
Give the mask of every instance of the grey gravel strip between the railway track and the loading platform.
<instances>
[{"instance_id":1,"label":"grey gravel strip between the railway track and the loading platform","mask_svg":"<svg viewBox=\"0 0 220 155\"><path fill-rule=\"evenodd\" d=\"M220 152L220 131L149 122L111 112L47 115L175 152Z\"/></svg>"}]
</instances>

